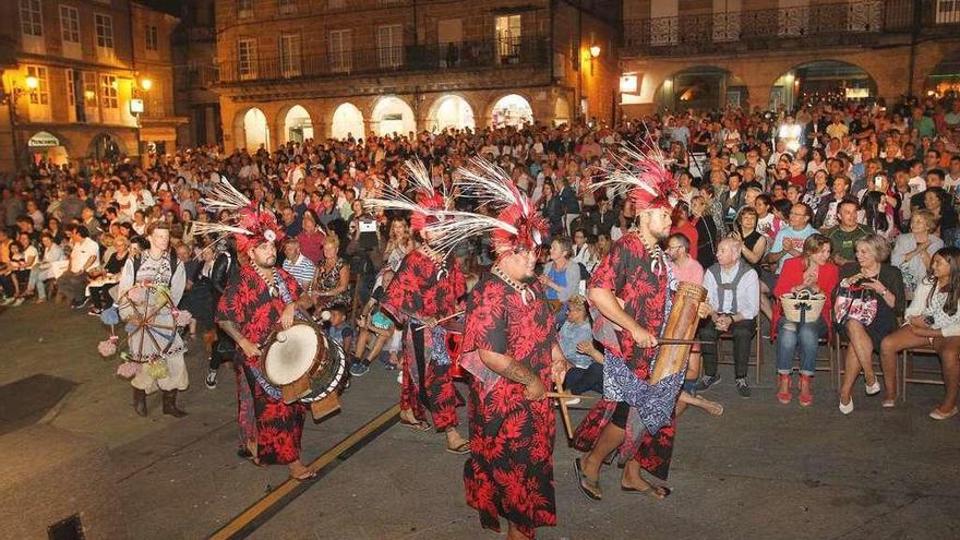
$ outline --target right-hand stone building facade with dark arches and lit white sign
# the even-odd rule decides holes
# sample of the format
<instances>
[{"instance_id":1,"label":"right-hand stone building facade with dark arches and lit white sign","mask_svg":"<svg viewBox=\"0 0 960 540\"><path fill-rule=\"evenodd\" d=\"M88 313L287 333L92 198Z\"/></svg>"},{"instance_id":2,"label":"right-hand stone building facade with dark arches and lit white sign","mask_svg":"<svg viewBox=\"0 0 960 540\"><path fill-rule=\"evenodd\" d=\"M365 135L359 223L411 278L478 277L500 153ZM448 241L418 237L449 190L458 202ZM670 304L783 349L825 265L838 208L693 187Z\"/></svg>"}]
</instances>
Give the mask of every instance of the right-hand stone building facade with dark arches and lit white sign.
<instances>
[{"instance_id":1,"label":"right-hand stone building facade with dark arches and lit white sign","mask_svg":"<svg viewBox=\"0 0 960 540\"><path fill-rule=\"evenodd\" d=\"M624 116L960 92L960 2L626 0Z\"/></svg>"}]
</instances>

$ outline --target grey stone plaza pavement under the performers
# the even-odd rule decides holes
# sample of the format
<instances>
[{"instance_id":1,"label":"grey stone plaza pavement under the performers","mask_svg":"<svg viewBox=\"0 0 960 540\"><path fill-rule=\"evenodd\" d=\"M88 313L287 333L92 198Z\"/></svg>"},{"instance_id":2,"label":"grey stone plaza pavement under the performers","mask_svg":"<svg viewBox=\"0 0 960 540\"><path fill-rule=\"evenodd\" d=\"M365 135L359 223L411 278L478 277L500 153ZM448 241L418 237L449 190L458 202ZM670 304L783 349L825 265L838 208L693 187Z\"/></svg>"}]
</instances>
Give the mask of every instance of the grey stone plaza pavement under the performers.
<instances>
[{"instance_id":1,"label":"grey stone plaza pavement under the performers","mask_svg":"<svg viewBox=\"0 0 960 540\"><path fill-rule=\"evenodd\" d=\"M116 363L96 351L106 327L68 311L47 303L0 312L0 447L7 447L4 439L43 428L100 448L107 456L100 471L108 479L104 495L132 539L205 538L286 479L285 467L256 468L235 455L232 376L224 369L215 391L204 386L202 344L188 356L191 387L181 395L181 407L190 416L164 417L157 395L148 401L149 417L142 419L130 407L129 384L113 375ZM721 367L724 381L707 397L722 401L724 415L691 410L682 418L669 482L673 494L663 502L621 492L612 468L601 478L605 499L585 499L573 476L577 453L566 446L557 424L559 525L540 529L538 538L960 538L960 418L935 422L926 417L941 387L911 385L905 405L884 410L879 397L865 397L859 384L856 411L843 417L826 373L816 380L813 407L777 403L769 347L766 358L754 397L737 397L732 368ZM355 380L340 415L320 424L308 420L304 459L394 405L395 377L396 372L374 365ZM574 410L575 422L589 401ZM460 418L465 421L463 412ZM466 433L466 427L461 430ZM443 444L442 435L393 425L310 483L250 537L495 538L479 528L464 502L465 456L444 452ZM57 455L56 448L44 449ZM33 467L43 470L25 452L4 451L2 461L22 467L0 468L0 487L15 481L12 475L34 478ZM39 484L21 482L19 493L31 501L69 496L31 493L32 485ZM16 497L0 505L7 511L0 516L11 508L31 512L17 508ZM87 538L121 536L89 531Z\"/></svg>"}]
</instances>

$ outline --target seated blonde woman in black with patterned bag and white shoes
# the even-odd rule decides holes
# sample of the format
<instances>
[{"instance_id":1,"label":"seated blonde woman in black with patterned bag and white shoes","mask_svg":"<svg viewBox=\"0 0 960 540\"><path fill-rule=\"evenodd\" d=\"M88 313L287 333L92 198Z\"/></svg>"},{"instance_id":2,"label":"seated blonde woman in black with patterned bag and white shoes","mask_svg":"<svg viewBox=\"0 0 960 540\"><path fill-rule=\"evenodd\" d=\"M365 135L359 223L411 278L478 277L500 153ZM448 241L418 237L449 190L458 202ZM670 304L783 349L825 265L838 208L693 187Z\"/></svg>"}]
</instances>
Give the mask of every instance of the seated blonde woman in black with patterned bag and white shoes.
<instances>
[{"instance_id":1,"label":"seated blonde woman in black with patterned bag and white shoes","mask_svg":"<svg viewBox=\"0 0 960 540\"><path fill-rule=\"evenodd\" d=\"M907 304L900 269L883 262L890 255L890 244L879 235L867 235L856 241L854 249L856 262L840 268L842 279L833 301L833 320L850 341L840 385L840 411L844 415L853 412L853 384L861 371L866 394L880 392L873 352L880 350L884 336L897 328L897 316ZM895 376L896 367L885 364L884 382L888 388L893 387ZM892 400L890 404L891 407Z\"/></svg>"}]
</instances>

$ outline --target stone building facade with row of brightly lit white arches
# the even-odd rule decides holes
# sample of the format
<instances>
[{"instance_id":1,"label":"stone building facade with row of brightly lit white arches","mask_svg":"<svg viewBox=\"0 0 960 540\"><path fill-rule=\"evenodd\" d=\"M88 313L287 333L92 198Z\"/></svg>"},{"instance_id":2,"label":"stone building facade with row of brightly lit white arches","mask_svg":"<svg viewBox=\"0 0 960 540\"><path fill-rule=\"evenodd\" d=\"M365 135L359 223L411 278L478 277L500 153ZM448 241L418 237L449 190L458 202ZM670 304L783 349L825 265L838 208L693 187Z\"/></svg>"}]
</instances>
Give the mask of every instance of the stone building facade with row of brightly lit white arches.
<instances>
[{"instance_id":1,"label":"stone building facade with row of brightly lit white arches","mask_svg":"<svg viewBox=\"0 0 960 540\"><path fill-rule=\"evenodd\" d=\"M217 0L225 146L578 115L610 122L619 5Z\"/></svg>"}]
</instances>

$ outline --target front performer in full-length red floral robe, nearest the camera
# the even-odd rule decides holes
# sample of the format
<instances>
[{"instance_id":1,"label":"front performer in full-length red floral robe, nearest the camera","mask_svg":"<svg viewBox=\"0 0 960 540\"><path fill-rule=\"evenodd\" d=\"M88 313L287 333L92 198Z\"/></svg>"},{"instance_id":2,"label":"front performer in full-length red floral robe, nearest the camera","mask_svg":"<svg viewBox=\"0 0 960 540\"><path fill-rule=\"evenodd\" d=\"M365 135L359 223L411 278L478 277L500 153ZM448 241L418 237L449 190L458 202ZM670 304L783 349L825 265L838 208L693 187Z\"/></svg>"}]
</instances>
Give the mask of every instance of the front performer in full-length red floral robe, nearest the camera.
<instances>
[{"instance_id":1,"label":"front performer in full-length red floral robe, nearest the camera","mask_svg":"<svg viewBox=\"0 0 960 540\"><path fill-rule=\"evenodd\" d=\"M537 281L537 253L547 221L511 178L482 159L457 171L464 196L475 197L495 217L466 212L427 226L439 249L490 233L496 262L481 276L467 302L460 365L470 383L470 458L464 465L467 504L480 525L507 538L533 538L537 527L556 524L553 485L553 401L551 381L568 364Z\"/></svg>"}]
</instances>

